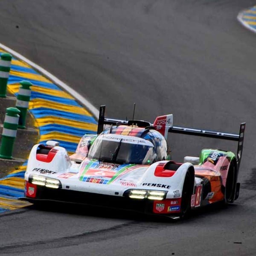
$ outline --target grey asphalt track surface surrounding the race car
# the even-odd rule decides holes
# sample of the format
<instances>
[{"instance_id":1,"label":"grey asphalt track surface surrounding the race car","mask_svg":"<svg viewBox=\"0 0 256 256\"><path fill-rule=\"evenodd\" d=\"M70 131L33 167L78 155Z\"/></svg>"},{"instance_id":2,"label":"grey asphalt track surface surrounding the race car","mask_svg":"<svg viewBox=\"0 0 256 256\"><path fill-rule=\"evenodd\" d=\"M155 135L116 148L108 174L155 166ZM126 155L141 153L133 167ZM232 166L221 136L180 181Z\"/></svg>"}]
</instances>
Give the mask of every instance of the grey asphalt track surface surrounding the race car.
<instances>
[{"instance_id":1,"label":"grey asphalt track surface surrounding the race car","mask_svg":"<svg viewBox=\"0 0 256 256\"><path fill-rule=\"evenodd\" d=\"M256 35L252 0L2 0L0 40L107 115L237 133L247 122L236 204L170 222L80 209L0 215L0 255L256 255ZM171 136L170 136L171 137ZM225 141L172 135L174 160Z\"/></svg>"}]
</instances>

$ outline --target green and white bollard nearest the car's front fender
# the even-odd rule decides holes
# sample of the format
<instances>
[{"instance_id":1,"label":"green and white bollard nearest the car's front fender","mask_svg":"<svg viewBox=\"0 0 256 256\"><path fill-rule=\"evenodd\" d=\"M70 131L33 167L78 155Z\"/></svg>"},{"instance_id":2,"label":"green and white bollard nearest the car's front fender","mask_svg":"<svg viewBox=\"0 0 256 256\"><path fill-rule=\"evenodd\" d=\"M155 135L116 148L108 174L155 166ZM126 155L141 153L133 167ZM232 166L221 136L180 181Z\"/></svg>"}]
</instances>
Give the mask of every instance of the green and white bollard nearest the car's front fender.
<instances>
[{"instance_id":1,"label":"green and white bollard nearest the car's front fender","mask_svg":"<svg viewBox=\"0 0 256 256\"><path fill-rule=\"evenodd\" d=\"M12 159L13 145L17 134L20 111L17 108L6 108L3 122L0 158Z\"/></svg>"}]
</instances>

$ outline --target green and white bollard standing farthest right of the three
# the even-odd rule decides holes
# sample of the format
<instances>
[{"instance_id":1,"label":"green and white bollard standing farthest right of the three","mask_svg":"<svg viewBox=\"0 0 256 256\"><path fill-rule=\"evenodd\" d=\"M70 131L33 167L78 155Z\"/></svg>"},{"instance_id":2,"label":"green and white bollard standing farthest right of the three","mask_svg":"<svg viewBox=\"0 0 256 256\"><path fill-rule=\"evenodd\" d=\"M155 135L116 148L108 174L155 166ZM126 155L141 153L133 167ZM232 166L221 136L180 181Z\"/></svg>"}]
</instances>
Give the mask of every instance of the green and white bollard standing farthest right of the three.
<instances>
[{"instance_id":1,"label":"green and white bollard standing farthest right of the three","mask_svg":"<svg viewBox=\"0 0 256 256\"><path fill-rule=\"evenodd\" d=\"M29 81L21 81L21 86L19 88L16 108L20 110L20 119L18 128L24 129L26 125L26 114L29 107L29 100L31 96L30 86L33 84Z\"/></svg>"}]
</instances>

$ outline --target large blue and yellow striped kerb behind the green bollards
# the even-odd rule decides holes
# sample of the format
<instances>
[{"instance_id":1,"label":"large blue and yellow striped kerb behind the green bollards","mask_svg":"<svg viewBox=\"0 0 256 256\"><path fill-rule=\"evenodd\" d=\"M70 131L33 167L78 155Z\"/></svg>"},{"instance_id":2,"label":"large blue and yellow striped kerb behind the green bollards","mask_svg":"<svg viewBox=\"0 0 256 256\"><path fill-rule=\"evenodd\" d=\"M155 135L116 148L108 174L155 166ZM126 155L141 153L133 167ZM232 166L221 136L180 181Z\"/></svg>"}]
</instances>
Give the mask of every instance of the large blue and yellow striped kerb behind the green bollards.
<instances>
[{"instance_id":1,"label":"large blue and yellow striped kerb behind the green bollards","mask_svg":"<svg viewBox=\"0 0 256 256\"><path fill-rule=\"evenodd\" d=\"M6 51L0 49L0 55L3 52ZM56 140L72 154L84 134L96 134L96 119L73 96L24 61L12 58L7 90L17 97L23 80L33 84L28 110L39 131L38 143ZM26 163L0 179L0 212L30 205L17 200L24 194L25 171Z\"/></svg>"}]
</instances>

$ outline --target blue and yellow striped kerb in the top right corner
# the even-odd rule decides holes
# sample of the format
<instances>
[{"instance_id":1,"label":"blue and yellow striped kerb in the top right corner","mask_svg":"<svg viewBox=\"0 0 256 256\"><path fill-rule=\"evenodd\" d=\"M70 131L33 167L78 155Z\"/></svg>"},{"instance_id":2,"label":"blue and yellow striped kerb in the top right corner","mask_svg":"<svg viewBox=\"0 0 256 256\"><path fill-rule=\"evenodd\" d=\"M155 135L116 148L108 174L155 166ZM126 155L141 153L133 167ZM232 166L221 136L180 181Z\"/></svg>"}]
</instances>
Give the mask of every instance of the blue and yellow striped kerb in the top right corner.
<instances>
[{"instance_id":1,"label":"blue and yellow striped kerb in the top right corner","mask_svg":"<svg viewBox=\"0 0 256 256\"><path fill-rule=\"evenodd\" d=\"M247 29L256 32L256 6L239 12L237 19Z\"/></svg>"}]
</instances>

